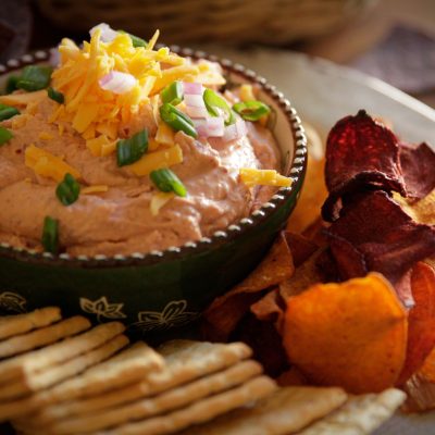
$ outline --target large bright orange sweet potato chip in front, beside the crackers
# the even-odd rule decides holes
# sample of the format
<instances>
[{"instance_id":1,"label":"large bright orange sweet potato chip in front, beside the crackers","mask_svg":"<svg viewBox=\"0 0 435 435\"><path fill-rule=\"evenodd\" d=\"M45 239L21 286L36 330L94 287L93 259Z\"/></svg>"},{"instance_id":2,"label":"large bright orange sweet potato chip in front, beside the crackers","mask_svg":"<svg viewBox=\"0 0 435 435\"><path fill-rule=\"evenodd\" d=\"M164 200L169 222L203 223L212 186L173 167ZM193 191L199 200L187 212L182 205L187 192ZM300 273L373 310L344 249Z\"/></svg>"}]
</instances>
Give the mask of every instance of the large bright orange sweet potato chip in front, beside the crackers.
<instances>
[{"instance_id":1,"label":"large bright orange sweet potato chip in front, beside the crackers","mask_svg":"<svg viewBox=\"0 0 435 435\"><path fill-rule=\"evenodd\" d=\"M376 273L289 298L284 347L310 382L350 393L393 386L403 366L407 312Z\"/></svg>"}]
</instances>

